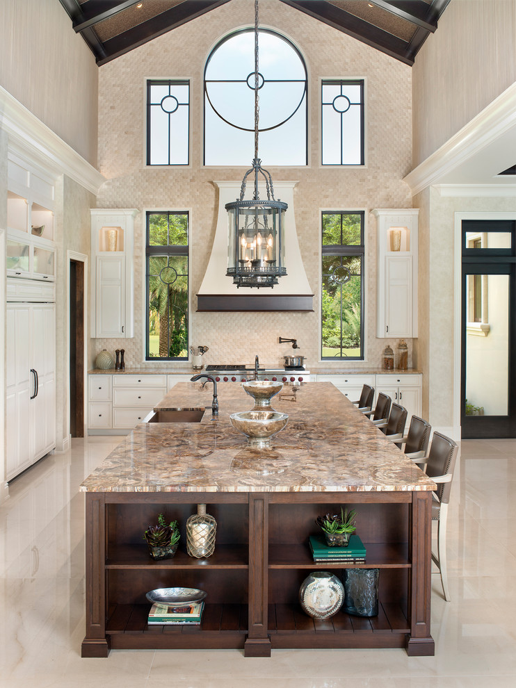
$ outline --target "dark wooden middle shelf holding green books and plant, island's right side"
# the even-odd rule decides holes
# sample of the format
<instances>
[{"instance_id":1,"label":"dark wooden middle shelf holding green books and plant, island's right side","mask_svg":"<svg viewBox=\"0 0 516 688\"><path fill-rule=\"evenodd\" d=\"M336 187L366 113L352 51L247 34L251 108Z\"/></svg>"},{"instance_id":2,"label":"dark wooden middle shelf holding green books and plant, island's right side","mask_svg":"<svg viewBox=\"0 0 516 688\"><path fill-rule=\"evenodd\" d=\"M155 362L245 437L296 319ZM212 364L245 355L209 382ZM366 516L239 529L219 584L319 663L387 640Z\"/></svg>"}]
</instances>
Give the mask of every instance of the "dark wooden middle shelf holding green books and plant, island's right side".
<instances>
[{"instance_id":1,"label":"dark wooden middle shelf holding green books and plant, island's right side","mask_svg":"<svg viewBox=\"0 0 516 688\"><path fill-rule=\"evenodd\" d=\"M364 543L365 564L314 562L308 544L269 545L268 568L411 568L407 543Z\"/></svg>"}]
</instances>

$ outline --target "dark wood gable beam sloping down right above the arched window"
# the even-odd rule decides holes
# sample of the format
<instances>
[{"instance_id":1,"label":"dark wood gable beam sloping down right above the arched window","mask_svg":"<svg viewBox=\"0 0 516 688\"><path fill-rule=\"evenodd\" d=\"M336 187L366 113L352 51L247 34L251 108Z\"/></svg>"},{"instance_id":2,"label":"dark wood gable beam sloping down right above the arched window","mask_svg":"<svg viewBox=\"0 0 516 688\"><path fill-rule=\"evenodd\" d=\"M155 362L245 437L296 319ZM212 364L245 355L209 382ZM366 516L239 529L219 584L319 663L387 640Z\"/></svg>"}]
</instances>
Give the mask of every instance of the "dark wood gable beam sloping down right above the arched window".
<instances>
[{"instance_id":1,"label":"dark wood gable beam sloping down right above the arched window","mask_svg":"<svg viewBox=\"0 0 516 688\"><path fill-rule=\"evenodd\" d=\"M406 41L392 35L392 33L382 31L378 26L364 22L363 19L355 17L355 15L345 12L331 3L323 0L280 0L280 2L294 7L296 10L301 10L310 17L319 19L320 22L336 28L337 31L347 33L352 38L400 60L405 65L414 64L414 60L408 55Z\"/></svg>"}]
</instances>

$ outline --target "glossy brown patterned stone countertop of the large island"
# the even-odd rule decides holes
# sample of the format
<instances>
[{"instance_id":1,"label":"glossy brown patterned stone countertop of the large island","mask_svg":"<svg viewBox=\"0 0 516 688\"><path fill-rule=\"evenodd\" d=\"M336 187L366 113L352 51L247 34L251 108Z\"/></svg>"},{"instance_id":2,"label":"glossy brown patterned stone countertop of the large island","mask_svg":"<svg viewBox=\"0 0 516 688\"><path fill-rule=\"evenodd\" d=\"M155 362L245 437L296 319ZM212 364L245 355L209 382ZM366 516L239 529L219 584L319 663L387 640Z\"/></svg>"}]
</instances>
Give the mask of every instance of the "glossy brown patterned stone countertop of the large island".
<instances>
[{"instance_id":1,"label":"glossy brown patterned stone countertop of the large island","mask_svg":"<svg viewBox=\"0 0 516 688\"><path fill-rule=\"evenodd\" d=\"M179 383L159 409L208 407L201 423L136 426L81 485L84 492L419 491L435 484L330 382L285 385L273 398L287 426L264 450L250 449L229 413L253 400L241 385Z\"/></svg>"}]
</instances>

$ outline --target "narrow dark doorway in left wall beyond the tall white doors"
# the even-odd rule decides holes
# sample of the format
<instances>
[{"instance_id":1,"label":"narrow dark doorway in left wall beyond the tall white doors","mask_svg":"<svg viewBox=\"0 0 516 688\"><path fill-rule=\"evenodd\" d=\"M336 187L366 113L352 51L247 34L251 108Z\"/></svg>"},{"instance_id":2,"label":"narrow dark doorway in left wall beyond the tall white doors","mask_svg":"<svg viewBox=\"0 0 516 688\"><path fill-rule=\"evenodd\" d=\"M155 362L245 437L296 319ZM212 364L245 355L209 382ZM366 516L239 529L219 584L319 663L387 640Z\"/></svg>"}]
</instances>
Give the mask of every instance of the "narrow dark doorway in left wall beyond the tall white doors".
<instances>
[{"instance_id":1,"label":"narrow dark doorway in left wall beyond the tall white doors","mask_svg":"<svg viewBox=\"0 0 516 688\"><path fill-rule=\"evenodd\" d=\"M84 263L70 259L70 435L84 436Z\"/></svg>"}]
</instances>

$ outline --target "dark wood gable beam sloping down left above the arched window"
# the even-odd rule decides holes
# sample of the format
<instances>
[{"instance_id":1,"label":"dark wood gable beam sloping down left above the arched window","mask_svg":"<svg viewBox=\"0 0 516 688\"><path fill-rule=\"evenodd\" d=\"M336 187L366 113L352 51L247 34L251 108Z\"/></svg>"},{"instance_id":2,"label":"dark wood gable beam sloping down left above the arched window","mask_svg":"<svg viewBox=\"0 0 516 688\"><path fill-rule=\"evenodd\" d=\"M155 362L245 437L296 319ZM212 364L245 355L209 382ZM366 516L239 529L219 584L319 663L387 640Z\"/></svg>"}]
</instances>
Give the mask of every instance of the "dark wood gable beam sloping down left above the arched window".
<instances>
[{"instance_id":1,"label":"dark wood gable beam sloping down left above the arched window","mask_svg":"<svg viewBox=\"0 0 516 688\"><path fill-rule=\"evenodd\" d=\"M175 7L166 10L143 24L138 24L118 36L104 41L106 56L97 60L97 65L104 65L120 55L128 53L144 43L196 19L210 10L225 5L229 0L184 0Z\"/></svg>"}]
</instances>

